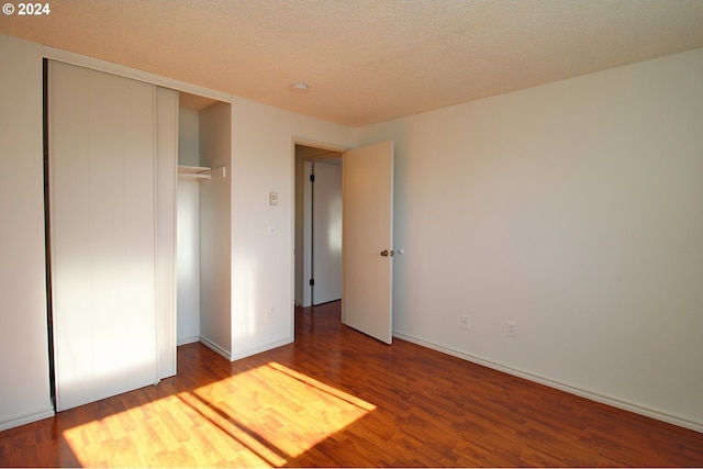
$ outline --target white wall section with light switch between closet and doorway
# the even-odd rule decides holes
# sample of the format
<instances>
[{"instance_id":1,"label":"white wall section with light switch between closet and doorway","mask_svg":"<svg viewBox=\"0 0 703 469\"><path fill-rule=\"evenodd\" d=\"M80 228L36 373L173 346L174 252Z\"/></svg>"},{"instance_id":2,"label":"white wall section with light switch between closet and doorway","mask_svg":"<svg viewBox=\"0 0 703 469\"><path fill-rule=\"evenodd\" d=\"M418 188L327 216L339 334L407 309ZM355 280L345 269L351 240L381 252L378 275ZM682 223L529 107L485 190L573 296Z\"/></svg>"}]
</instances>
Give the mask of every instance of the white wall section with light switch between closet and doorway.
<instances>
[{"instance_id":1,"label":"white wall section with light switch between closet and doorway","mask_svg":"<svg viewBox=\"0 0 703 469\"><path fill-rule=\"evenodd\" d=\"M355 131L244 99L232 103L232 356L293 339L293 142L350 147ZM278 192L278 205L268 204Z\"/></svg>"}]
</instances>

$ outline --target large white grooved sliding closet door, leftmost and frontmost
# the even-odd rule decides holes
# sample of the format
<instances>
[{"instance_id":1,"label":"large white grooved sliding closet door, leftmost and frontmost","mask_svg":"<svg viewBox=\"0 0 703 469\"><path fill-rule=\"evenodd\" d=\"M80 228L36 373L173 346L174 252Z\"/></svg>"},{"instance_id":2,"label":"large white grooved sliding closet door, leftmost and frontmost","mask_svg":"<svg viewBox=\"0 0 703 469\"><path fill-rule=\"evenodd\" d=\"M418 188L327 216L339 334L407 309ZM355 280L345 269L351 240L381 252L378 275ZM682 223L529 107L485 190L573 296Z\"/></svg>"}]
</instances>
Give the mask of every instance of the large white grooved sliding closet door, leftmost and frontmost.
<instances>
[{"instance_id":1,"label":"large white grooved sliding closet door, leftmost and frontmost","mask_svg":"<svg viewBox=\"0 0 703 469\"><path fill-rule=\"evenodd\" d=\"M155 87L51 63L57 410L158 381Z\"/></svg>"}]
</instances>

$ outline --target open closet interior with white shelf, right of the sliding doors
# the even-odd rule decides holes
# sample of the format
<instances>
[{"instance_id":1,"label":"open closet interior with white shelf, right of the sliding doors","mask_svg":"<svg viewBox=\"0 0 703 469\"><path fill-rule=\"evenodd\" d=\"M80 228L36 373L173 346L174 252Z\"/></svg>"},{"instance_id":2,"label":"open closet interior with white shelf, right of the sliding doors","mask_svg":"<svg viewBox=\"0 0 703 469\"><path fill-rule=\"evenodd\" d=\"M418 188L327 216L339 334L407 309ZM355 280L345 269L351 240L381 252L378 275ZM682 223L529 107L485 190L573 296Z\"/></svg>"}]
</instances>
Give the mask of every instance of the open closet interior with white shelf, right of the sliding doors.
<instances>
[{"instance_id":1,"label":"open closet interior with white shelf, right of the sliding doors","mask_svg":"<svg viewBox=\"0 0 703 469\"><path fill-rule=\"evenodd\" d=\"M231 108L180 93L178 344L231 355Z\"/></svg>"}]
</instances>

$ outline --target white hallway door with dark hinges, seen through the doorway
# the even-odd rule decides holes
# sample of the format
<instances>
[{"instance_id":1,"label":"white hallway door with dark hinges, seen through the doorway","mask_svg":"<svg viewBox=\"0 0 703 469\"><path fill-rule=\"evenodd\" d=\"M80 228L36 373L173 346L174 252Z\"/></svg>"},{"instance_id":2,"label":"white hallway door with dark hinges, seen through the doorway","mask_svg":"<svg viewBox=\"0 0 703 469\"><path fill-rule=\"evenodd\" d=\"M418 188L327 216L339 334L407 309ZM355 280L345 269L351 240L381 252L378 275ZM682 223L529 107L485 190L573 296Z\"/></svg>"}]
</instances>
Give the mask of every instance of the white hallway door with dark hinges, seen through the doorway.
<instances>
[{"instance_id":1,"label":"white hallway door with dark hinges, seen through the doorway","mask_svg":"<svg viewBox=\"0 0 703 469\"><path fill-rule=\"evenodd\" d=\"M342 298L342 165L314 164L312 208L313 304Z\"/></svg>"}]
</instances>

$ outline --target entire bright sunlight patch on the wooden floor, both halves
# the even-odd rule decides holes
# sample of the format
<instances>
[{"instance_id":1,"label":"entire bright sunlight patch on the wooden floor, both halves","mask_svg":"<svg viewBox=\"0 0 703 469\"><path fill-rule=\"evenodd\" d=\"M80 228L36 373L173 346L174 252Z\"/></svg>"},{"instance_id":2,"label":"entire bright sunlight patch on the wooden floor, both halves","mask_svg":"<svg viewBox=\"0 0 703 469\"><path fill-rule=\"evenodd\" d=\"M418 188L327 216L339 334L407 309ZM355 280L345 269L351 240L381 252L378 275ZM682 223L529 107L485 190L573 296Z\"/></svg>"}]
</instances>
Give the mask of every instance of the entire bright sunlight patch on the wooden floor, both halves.
<instances>
[{"instance_id":1,"label":"entire bright sunlight patch on the wooden floor, both halves","mask_svg":"<svg viewBox=\"0 0 703 469\"><path fill-rule=\"evenodd\" d=\"M375 409L271 361L63 435L83 467L278 467Z\"/></svg>"}]
</instances>

